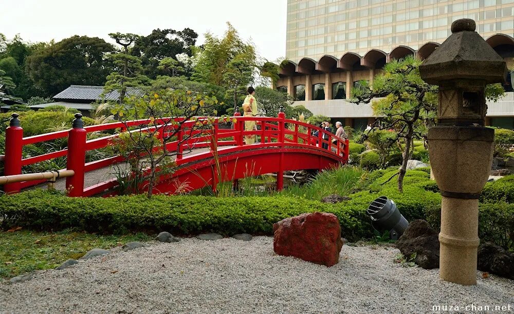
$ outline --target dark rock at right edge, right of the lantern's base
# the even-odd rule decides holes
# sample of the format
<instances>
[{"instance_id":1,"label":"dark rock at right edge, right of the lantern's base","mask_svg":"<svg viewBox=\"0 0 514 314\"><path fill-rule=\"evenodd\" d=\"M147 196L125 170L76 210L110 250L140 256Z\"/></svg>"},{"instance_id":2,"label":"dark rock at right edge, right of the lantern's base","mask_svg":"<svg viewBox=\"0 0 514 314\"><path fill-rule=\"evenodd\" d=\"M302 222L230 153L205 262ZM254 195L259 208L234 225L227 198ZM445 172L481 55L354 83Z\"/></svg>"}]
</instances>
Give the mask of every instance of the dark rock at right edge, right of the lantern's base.
<instances>
[{"instance_id":1,"label":"dark rock at right edge, right of the lantern's base","mask_svg":"<svg viewBox=\"0 0 514 314\"><path fill-rule=\"evenodd\" d=\"M514 254L490 242L478 249L478 269L514 279Z\"/></svg>"}]
</instances>

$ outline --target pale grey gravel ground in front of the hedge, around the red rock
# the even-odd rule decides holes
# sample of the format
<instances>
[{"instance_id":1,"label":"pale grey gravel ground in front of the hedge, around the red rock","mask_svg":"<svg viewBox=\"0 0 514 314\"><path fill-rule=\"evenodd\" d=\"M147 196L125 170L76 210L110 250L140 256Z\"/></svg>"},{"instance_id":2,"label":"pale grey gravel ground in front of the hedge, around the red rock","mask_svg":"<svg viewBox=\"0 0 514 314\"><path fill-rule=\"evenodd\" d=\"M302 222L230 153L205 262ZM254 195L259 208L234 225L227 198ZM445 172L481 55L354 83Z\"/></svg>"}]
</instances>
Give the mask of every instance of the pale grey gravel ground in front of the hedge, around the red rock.
<instances>
[{"instance_id":1,"label":"pale grey gravel ground in front of the hedge, around the red rock","mask_svg":"<svg viewBox=\"0 0 514 314\"><path fill-rule=\"evenodd\" d=\"M451 284L437 270L394 264L397 253L344 245L339 264L327 268L275 255L270 237L151 243L1 282L0 312L426 313L509 303L514 311L514 281L479 272L476 286Z\"/></svg>"}]
</instances>

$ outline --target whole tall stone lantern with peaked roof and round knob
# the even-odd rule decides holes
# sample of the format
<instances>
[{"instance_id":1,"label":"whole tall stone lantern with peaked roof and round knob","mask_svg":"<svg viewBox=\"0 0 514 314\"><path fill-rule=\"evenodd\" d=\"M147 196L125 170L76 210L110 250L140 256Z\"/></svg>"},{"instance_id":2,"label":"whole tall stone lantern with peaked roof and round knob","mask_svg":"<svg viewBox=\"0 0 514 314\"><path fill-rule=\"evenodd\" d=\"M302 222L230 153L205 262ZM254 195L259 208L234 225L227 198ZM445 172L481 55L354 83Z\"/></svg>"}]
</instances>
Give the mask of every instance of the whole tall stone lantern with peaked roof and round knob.
<instances>
[{"instance_id":1,"label":"whole tall stone lantern with peaked roof and round knob","mask_svg":"<svg viewBox=\"0 0 514 314\"><path fill-rule=\"evenodd\" d=\"M492 163L485 85L504 82L507 71L475 26L469 18L453 22L451 36L419 67L423 80L439 86L437 125L428 131L442 195L439 276L463 285L476 284L479 195Z\"/></svg>"}]
</instances>

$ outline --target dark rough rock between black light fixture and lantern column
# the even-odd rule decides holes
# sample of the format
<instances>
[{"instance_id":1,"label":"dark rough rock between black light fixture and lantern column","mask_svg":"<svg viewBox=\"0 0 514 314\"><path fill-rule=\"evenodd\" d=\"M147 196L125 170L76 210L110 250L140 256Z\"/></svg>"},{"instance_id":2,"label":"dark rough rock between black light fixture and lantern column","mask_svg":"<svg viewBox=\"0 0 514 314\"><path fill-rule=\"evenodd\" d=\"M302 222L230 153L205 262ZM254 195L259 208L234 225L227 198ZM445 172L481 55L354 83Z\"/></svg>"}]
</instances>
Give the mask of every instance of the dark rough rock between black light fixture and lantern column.
<instances>
[{"instance_id":1,"label":"dark rough rock between black light fixture and lantern column","mask_svg":"<svg viewBox=\"0 0 514 314\"><path fill-rule=\"evenodd\" d=\"M416 252L414 263L425 268L439 268L438 233L424 220L414 220L409 224L396 247L406 258Z\"/></svg>"}]
</instances>

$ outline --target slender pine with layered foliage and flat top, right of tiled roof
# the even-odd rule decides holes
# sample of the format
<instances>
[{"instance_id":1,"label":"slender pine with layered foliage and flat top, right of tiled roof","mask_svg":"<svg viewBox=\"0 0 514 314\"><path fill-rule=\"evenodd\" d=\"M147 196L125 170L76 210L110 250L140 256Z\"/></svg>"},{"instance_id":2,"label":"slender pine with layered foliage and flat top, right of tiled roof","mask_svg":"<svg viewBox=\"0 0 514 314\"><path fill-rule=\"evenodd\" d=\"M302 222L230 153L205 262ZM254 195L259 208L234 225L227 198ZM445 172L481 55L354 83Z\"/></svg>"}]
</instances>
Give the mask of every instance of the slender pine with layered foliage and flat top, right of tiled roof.
<instances>
[{"instance_id":1,"label":"slender pine with layered foliage and flat top, right of tiled roof","mask_svg":"<svg viewBox=\"0 0 514 314\"><path fill-rule=\"evenodd\" d=\"M131 33L110 33L109 36L122 48L120 52L109 55L114 64L115 71L107 76L104 93L118 91L119 98L117 102L122 104L127 94L127 88L140 87L148 83L149 79L141 74L143 67L140 58L130 54L139 36Z\"/></svg>"}]
</instances>

